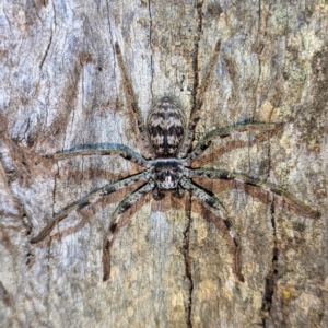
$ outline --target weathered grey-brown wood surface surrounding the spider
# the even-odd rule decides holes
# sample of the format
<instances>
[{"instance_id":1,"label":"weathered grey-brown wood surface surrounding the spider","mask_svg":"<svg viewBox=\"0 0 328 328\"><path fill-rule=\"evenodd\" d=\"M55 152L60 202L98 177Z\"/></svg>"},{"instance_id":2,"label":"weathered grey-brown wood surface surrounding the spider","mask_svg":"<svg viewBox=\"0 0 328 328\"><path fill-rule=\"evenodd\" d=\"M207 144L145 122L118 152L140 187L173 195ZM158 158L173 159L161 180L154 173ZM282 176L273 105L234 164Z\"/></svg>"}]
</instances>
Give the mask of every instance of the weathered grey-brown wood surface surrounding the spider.
<instances>
[{"instance_id":1,"label":"weathered grey-brown wood surface surrounding the spider","mask_svg":"<svg viewBox=\"0 0 328 328\"><path fill-rule=\"evenodd\" d=\"M327 31L324 0L2 1L0 326L328 327ZM279 184L321 218L242 183L197 180L229 210L245 282L215 215L187 194L149 195L125 213L108 282L103 234L134 187L31 245L54 212L139 169L116 156L43 157L82 143L142 151L115 42L145 119L163 94L188 117L218 39L196 137L245 120L283 127L216 140L194 167Z\"/></svg>"}]
</instances>

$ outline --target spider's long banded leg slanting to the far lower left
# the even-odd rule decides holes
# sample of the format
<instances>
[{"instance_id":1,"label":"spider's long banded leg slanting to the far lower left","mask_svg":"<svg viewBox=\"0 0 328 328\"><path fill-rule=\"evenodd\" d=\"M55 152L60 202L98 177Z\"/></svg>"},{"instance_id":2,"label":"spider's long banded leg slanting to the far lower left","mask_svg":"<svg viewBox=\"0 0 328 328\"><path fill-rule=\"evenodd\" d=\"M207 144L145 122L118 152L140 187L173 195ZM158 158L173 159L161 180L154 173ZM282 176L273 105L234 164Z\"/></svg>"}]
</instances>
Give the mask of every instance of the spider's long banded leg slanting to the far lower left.
<instances>
[{"instance_id":1,"label":"spider's long banded leg slanting to the far lower left","mask_svg":"<svg viewBox=\"0 0 328 328\"><path fill-rule=\"evenodd\" d=\"M90 194L85 195L81 199L70 203L66 208L63 208L61 211L55 214L55 216L51 219L51 221L40 231L40 233L31 239L31 243L38 243L43 241L49 233L52 231L55 225L59 223L61 220L63 220L71 211L83 209L84 207L89 206L92 201L95 201L99 197L103 197L105 195L109 195L112 192L115 192L119 189L122 189L125 187L128 187L134 183L142 181L149 179L148 173L139 173L132 176L128 176L126 178L119 179L117 181L107 184L101 188L97 188Z\"/></svg>"}]
</instances>

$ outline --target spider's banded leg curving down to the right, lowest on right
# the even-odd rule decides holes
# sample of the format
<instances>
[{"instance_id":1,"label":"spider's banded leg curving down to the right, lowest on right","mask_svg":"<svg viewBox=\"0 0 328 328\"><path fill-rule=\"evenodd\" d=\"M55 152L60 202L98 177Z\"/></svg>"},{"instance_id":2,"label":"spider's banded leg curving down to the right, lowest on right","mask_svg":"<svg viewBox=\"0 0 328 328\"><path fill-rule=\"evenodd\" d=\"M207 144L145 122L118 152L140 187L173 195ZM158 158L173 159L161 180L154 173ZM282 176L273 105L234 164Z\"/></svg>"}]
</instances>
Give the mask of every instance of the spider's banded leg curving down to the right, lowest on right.
<instances>
[{"instance_id":1,"label":"spider's banded leg curving down to the right, lowest on right","mask_svg":"<svg viewBox=\"0 0 328 328\"><path fill-rule=\"evenodd\" d=\"M195 196L197 196L200 200L204 201L206 204L214 212L214 214L220 214L221 219L224 222L225 229L229 232L230 237L233 241L233 260L234 260L234 273L236 274L237 279L239 281L244 281L244 277L242 274L242 268L241 268L241 261L239 261L239 256L241 256L241 246L237 241L236 234L233 232L231 222L226 219L226 211L221 203L221 201L214 196L211 195L209 190L206 190L201 188L200 186L197 186L195 183L192 183L190 179L183 177L180 180L180 185L187 189L189 192L192 192Z\"/></svg>"}]
</instances>

